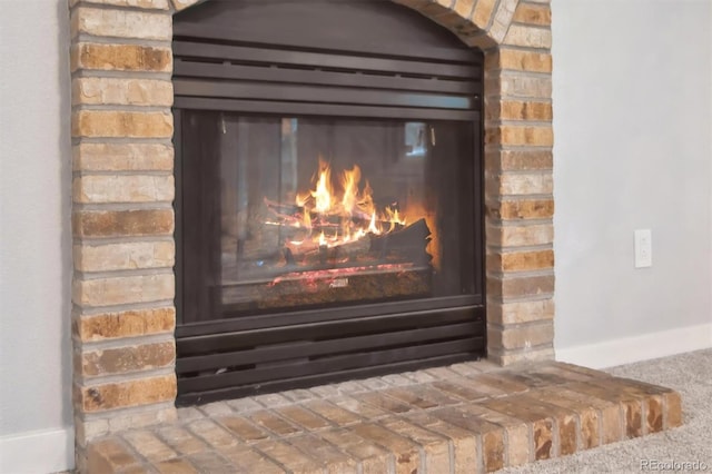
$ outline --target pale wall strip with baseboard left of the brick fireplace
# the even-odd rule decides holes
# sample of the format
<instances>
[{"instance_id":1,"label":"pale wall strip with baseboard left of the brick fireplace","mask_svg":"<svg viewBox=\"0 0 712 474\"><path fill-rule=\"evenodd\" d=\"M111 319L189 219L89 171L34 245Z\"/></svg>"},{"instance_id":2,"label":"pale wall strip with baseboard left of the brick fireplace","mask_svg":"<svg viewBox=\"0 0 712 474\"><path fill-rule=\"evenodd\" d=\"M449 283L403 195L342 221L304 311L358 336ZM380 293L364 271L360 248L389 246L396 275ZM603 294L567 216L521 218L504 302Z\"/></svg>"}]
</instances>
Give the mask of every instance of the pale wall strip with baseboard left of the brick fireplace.
<instances>
[{"instance_id":1,"label":"pale wall strip with baseboard left of the brick fireplace","mask_svg":"<svg viewBox=\"0 0 712 474\"><path fill-rule=\"evenodd\" d=\"M0 472L72 465L67 0L0 14Z\"/></svg>"}]
</instances>

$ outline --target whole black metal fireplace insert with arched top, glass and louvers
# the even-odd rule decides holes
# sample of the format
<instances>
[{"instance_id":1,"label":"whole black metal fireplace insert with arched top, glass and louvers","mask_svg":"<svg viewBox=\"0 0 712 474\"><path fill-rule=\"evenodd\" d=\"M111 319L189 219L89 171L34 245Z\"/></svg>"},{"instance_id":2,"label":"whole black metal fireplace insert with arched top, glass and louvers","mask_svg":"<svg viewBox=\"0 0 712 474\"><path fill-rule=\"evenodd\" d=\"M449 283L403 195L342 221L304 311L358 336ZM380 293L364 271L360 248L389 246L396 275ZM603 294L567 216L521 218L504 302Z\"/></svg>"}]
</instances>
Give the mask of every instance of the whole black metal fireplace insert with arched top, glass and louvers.
<instances>
[{"instance_id":1,"label":"whole black metal fireplace insert with arched top, glass and louvers","mask_svg":"<svg viewBox=\"0 0 712 474\"><path fill-rule=\"evenodd\" d=\"M482 53L395 3L274 9L174 22L179 403L484 356Z\"/></svg>"}]
</instances>

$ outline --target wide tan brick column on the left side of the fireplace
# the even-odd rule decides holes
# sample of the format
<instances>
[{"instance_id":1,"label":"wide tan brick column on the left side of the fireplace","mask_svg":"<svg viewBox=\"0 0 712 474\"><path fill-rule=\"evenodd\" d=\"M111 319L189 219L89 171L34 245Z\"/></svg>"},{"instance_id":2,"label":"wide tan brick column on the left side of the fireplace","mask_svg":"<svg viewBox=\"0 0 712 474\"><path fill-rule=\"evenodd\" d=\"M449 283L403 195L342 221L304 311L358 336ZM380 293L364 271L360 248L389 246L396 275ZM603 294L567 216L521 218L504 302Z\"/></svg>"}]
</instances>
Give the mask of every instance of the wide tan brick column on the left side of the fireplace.
<instances>
[{"instance_id":1,"label":"wide tan brick column on the left side of the fireplace","mask_svg":"<svg viewBox=\"0 0 712 474\"><path fill-rule=\"evenodd\" d=\"M69 3L80 465L88 440L175 416L172 19L167 0Z\"/></svg>"}]
</instances>

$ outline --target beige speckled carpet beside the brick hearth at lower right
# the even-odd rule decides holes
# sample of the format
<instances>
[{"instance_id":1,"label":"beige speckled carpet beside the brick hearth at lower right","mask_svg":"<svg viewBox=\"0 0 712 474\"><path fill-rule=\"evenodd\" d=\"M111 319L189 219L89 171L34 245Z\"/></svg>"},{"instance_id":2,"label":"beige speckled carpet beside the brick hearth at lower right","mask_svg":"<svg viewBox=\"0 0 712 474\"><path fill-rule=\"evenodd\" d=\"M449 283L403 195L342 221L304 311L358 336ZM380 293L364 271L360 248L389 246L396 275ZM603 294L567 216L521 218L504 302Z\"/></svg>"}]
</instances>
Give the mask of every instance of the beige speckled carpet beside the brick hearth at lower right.
<instances>
[{"instance_id":1,"label":"beige speckled carpet beside the brick hearth at lower right","mask_svg":"<svg viewBox=\"0 0 712 474\"><path fill-rule=\"evenodd\" d=\"M683 425L500 473L712 473L712 349L622 365L605 372L680 392ZM649 462L647 468L642 465L645 461ZM685 462L698 464L684 465ZM703 468L705 466L706 470Z\"/></svg>"}]
</instances>

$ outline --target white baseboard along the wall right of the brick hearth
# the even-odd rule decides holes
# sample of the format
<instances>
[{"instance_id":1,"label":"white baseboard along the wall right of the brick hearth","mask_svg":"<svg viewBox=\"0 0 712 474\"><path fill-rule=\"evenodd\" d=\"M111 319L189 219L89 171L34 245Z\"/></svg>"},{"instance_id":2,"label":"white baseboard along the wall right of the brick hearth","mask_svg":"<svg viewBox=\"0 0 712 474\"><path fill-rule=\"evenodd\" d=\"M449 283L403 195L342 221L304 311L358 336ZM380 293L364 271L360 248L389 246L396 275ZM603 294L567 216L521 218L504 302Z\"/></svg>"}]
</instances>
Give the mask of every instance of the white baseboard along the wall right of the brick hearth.
<instances>
[{"instance_id":1,"label":"white baseboard along the wall right of the brick hearth","mask_svg":"<svg viewBox=\"0 0 712 474\"><path fill-rule=\"evenodd\" d=\"M556 361L606 368L712 347L712 323L556 348Z\"/></svg>"}]
</instances>

